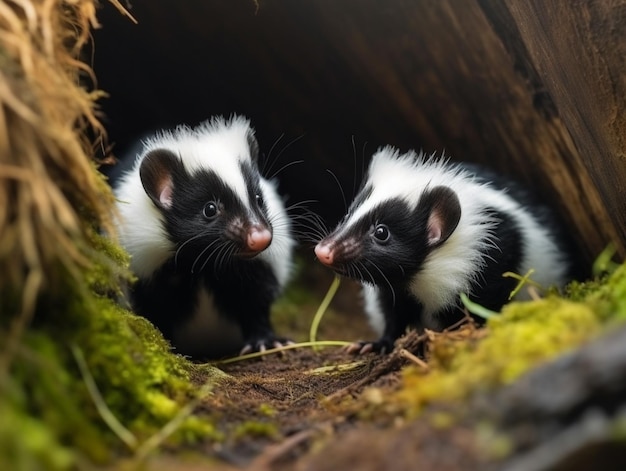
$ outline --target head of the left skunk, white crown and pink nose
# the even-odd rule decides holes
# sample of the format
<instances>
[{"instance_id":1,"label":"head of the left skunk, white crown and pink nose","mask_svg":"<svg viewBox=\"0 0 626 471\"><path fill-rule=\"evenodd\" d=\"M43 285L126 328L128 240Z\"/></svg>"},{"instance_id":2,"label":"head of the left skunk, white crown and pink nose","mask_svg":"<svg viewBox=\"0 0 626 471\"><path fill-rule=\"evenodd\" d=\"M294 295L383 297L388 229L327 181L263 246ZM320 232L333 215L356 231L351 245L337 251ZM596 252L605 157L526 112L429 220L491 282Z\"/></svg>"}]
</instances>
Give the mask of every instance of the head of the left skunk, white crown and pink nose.
<instances>
[{"instance_id":1,"label":"head of the left skunk, white crown and pink nose","mask_svg":"<svg viewBox=\"0 0 626 471\"><path fill-rule=\"evenodd\" d=\"M247 120L213 120L146 144L145 194L161 215L180 269L252 258L272 242L258 145Z\"/></svg>"}]
</instances>

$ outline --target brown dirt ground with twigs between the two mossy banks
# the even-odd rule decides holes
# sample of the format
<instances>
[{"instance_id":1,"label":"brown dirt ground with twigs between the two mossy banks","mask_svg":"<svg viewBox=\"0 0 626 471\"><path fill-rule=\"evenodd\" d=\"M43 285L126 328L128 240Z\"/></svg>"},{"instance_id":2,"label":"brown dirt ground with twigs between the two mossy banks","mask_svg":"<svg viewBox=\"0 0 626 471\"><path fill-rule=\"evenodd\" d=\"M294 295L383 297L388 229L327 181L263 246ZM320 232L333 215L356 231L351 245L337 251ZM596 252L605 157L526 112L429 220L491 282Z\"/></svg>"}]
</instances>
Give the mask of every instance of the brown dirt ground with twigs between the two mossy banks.
<instances>
[{"instance_id":1,"label":"brown dirt ground with twigs between the two mossy banks","mask_svg":"<svg viewBox=\"0 0 626 471\"><path fill-rule=\"evenodd\" d=\"M312 280L321 300L332 277L322 274ZM358 300L356 286L343 283L318 338L374 338ZM308 335L316 308L304 308L298 325L288 327L296 329L295 340ZM409 351L420 349L415 333L401 342ZM341 347L326 347L220 365L230 379L217 386L196 413L217 423L225 440L201 444L187 458L171 450L169 457L158 458L154 469L207 469L206 458L211 458L210 469L217 470L474 468L480 459L472 434L462 426L438 429L427 419L364 415L368 401L384 401L386 393L398 387L399 371L408 362L397 350L355 356ZM198 378L199 387L202 381ZM370 387L375 387L375 397L368 397Z\"/></svg>"}]
</instances>

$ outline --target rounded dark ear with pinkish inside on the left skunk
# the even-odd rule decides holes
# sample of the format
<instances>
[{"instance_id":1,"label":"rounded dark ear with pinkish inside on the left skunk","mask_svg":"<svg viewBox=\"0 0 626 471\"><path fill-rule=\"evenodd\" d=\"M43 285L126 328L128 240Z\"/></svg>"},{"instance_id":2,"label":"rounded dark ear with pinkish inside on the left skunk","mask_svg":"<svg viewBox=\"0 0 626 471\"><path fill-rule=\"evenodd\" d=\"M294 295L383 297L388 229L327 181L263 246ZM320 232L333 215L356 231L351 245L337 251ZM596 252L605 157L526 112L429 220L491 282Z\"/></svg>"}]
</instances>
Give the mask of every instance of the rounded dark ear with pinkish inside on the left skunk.
<instances>
[{"instance_id":1,"label":"rounded dark ear with pinkish inside on the left skunk","mask_svg":"<svg viewBox=\"0 0 626 471\"><path fill-rule=\"evenodd\" d=\"M161 209L172 207L175 172L183 170L183 163L167 149L151 150L141 161L139 178L146 194Z\"/></svg>"}]
</instances>

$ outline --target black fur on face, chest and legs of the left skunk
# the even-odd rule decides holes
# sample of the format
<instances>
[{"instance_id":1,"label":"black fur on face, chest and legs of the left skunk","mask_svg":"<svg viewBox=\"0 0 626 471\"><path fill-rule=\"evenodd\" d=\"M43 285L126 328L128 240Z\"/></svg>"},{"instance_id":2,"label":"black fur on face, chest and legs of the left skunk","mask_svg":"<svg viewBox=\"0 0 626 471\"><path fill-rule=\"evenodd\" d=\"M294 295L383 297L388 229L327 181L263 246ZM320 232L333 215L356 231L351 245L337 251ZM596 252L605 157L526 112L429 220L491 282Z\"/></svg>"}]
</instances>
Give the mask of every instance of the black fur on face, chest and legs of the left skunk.
<instances>
[{"instance_id":1,"label":"black fur on face, chest and legs of the left skunk","mask_svg":"<svg viewBox=\"0 0 626 471\"><path fill-rule=\"evenodd\" d=\"M279 283L267 263L250 259L245 251L246 221L252 218L271 231L260 174L248 162L242 162L240 169L252 215L219 175L209 170L190 174L168 150L151 151L140 167L144 189L161 211L176 253L150 278L133 285L133 309L172 341L176 328L193 317L199 290L206 289L219 315L237 325L243 337L243 344L233 345L232 350L207 346L211 356L234 353L243 345L258 350L286 342L274 335L270 323L270 307L279 294ZM159 199L166 185L173 188L170 204ZM215 215L209 214L208 205L216 210ZM189 353L184 344L174 347Z\"/></svg>"}]
</instances>

